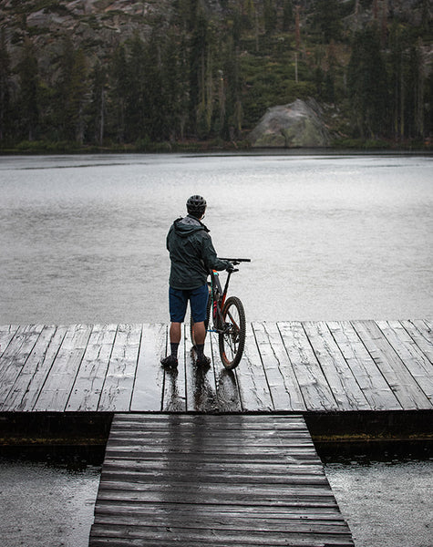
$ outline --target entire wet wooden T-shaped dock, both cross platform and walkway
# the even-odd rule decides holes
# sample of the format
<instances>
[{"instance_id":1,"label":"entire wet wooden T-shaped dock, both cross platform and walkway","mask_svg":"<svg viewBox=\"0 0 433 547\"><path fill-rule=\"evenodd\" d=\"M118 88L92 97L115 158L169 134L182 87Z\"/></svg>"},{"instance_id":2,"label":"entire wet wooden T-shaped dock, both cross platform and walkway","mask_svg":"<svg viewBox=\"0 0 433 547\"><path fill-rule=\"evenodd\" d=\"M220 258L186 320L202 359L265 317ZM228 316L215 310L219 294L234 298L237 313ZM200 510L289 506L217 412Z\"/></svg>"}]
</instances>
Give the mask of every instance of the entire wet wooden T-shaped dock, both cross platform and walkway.
<instances>
[{"instance_id":1,"label":"entire wet wooden T-shaped dock, both cross platform and walkway","mask_svg":"<svg viewBox=\"0 0 433 547\"><path fill-rule=\"evenodd\" d=\"M253 323L234 371L215 335L197 367L183 334L166 371L168 325L0 326L1 442L87 419L105 444L114 417L92 547L353 545L311 435L350 417L401 437L403 416L431 441L432 322Z\"/></svg>"}]
</instances>

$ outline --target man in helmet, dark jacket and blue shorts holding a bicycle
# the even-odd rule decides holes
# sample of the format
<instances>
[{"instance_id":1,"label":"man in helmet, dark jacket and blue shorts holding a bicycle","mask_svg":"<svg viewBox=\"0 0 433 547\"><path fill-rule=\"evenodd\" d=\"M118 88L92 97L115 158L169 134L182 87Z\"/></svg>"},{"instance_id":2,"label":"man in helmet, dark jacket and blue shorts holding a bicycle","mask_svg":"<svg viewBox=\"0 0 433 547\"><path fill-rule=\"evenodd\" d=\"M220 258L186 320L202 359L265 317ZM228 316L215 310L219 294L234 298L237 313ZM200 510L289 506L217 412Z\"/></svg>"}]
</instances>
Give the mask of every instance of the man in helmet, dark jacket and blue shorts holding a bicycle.
<instances>
[{"instance_id":1,"label":"man in helmet, dark jacket and blue shorts holding a bicycle","mask_svg":"<svg viewBox=\"0 0 433 547\"><path fill-rule=\"evenodd\" d=\"M220 260L213 248L209 230L201 222L206 201L198 195L187 201L188 215L174 221L167 235L170 253L170 355L161 359L162 366L178 366L181 324L185 319L188 302L194 322L197 365L207 366L211 359L204 355L206 337L206 307L210 270L232 270L232 263Z\"/></svg>"}]
</instances>

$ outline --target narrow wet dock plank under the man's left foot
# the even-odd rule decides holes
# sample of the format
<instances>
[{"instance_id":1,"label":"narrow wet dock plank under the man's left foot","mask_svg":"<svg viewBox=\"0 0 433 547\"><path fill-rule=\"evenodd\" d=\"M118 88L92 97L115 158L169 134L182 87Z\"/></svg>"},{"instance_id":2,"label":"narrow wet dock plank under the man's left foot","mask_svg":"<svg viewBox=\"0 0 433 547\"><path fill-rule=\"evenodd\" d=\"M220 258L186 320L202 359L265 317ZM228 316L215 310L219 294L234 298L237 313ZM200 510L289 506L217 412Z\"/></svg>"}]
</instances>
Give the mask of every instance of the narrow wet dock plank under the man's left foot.
<instances>
[{"instance_id":1,"label":"narrow wet dock plank under the man's left foot","mask_svg":"<svg viewBox=\"0 0 433 547\"><path fill-rule=\"evenodd\" d=\"M188 325L190 328L190 325ZM170 340L168 343L170 348ZM187 349L185 342L185 325L182 325L182 336L178 352L178 368L164 371L164 387L162 395L162 409L164 412L185 412L186 401L186 372L185 361Z\"/></svg>"}]
</instances>

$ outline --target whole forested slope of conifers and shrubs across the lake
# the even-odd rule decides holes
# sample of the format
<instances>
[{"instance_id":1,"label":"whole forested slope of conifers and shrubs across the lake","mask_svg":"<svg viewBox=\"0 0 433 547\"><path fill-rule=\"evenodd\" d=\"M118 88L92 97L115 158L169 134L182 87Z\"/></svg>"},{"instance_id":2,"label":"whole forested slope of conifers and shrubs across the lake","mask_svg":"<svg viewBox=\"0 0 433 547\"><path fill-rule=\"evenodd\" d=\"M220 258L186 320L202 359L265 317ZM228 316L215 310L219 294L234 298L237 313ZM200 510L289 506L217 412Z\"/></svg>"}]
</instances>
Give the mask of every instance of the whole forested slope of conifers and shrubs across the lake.
<instances>
[{"instance_id":1,"label":"whole forested slope of conifers and shrubs across the lake","mask_svg":"<svg viewBox=\"0 0 433 547\"><path fill-rule=\"evenodd\" d=\"M83 14L93 43L58 33L49 58L26 9L77 3L3 4L0 150L242 149L266 108L310 97L335 146L432 148L428 0L172 0L106 41Z\"/></svg>"}]
</instances>

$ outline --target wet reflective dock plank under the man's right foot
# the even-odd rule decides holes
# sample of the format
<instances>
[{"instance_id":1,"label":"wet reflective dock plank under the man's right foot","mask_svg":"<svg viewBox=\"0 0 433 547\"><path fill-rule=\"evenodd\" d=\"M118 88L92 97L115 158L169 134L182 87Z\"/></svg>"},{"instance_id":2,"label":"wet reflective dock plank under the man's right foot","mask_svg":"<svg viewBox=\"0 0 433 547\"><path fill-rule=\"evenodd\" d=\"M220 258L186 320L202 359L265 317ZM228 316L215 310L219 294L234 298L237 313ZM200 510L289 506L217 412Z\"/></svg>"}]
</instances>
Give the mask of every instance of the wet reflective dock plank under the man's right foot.
<instances>
[{"instance_id":1,"label":"wet reflective dock plank under the man's right foot","mask_svg":"<svg viewBox=\"0 0 433 547\"><path fill-rule=\"evenodd\" d=\"M204 353L211 358L211 342L206 336ZM213 360L210 366L197 366L196 354L192 349L190 325L185 325L186 396L188 412L215 412L218 396L215 385Z\"/></svg>"}]
</instances>

